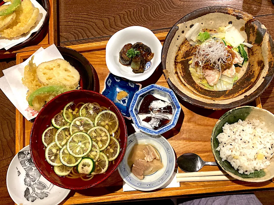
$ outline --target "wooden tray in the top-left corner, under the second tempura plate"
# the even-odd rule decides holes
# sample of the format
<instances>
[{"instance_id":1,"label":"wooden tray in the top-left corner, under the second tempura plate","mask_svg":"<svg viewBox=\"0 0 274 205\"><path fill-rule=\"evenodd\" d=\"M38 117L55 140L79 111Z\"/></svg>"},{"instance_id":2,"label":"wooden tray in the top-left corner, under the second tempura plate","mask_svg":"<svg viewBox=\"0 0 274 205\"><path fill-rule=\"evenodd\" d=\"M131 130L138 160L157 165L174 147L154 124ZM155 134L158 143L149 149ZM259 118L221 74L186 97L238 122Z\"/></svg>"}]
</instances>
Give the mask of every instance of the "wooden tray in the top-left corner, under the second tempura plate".
<instances>
[{"instance_id":1,"label":"wooden tray in the top-left corner, under the second tempura plate","mask_svg":"<svg viewBox=\"0 0 274 205\"><path fill-rule=\"evenodd\" d=\"M38 45L22 47L17 50L12 48L9 50L0 50L0 59L3 58L13 58L17 53L36 51L40 47L47 48L52 44L57 44L57 3L56 0L49 0L49 28L47 30L47 35ZM47 29L47 28L44 28Z\"/></svg>"}]
</instances>

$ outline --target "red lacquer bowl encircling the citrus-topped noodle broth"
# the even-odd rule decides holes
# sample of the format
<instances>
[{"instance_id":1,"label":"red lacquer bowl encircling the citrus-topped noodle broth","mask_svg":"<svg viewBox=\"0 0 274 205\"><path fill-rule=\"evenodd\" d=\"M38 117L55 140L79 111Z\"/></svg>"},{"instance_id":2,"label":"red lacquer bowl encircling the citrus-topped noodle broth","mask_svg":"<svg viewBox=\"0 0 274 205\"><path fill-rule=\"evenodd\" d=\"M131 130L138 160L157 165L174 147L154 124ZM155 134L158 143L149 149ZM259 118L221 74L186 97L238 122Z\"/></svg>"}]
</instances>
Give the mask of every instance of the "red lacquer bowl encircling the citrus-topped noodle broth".
<instances>
[{"instance_id":1,"label":"red lacquer bowl encircling the citrus-topped noodle broth","mask_svg":"<svg viewBox=\"0 0 274 205\"><path fill-rule=\"evenodd\" d=\"M53 166L51 166L45 159L45 147L42 142L42 134L44 130L51 126L51 119L58 114L67 103L74 101L74 103L99 103L100 106L110 107L110 110L113 111L119 120L120 127L120 153L115 159L115 163L109 163L108 169L105 174L95 175L91 180L84 181L82 179L69 179L67 177L59 177L53 171ZM30 136L30 150L31 158L38 169L38 171L51 183L54 185L60 186L66 189L85 189L92 186L98 185L106 178L108 178L111 173L114 172L116 167L119 165L124 157L126 151L126 142L127 142L127 130L124 118L120 110L114 105L110 99L105 96L96 93L94 91L87 90L73 90L58 95L53 98L49 103L47 103L42 110L39 112L33 126L31 128Z\"/></svg>"}]
</instances>

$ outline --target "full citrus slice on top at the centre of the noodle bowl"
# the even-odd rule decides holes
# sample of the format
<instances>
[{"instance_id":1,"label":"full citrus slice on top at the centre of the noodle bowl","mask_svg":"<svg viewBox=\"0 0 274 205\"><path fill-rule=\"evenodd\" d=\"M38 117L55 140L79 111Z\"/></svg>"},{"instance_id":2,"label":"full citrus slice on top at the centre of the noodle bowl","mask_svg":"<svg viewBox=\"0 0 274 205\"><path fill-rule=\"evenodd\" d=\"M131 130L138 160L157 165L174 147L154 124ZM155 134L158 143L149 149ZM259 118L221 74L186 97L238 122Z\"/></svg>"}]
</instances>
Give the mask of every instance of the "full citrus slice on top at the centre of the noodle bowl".
<instances>
[{"instance_id":1,"label":"full citrus slice on top at the centre of the noodle bowl","mask_svg":"<svg viewBox=\"0 0 274 205\"><path fill-rule=\"evenodd\" d=\"M76 132L68 139L67 150L74 157L86 156L91 147L92 140L85 132Z\"/></svg>"}]
</instances>

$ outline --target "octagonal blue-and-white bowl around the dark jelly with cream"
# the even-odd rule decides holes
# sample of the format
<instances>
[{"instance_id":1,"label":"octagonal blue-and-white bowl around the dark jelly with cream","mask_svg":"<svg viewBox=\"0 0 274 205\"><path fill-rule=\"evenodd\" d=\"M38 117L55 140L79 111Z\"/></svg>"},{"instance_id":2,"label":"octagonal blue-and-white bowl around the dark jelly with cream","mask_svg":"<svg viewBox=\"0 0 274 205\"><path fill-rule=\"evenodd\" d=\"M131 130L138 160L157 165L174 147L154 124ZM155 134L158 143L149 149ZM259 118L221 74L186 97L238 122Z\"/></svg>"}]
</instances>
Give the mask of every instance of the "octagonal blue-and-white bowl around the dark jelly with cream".
<instances>
[{"instance_id":1,"label":"octagonal blue-and-white bowl around the dark jelly with cream","mask_svg":"<svg viewBox=\"0 0 274 205\"><path fill-rule=\"evenodd\" d=\"M160 96L166 98L171 103L172 108L173 108L173 114L172 114L172 118L171 118L170 122L158 130L154 130L151 127L147 127L147 126L143 125L142 121L140 120L140 118L137 114L143 98L148 94L160 95ZM179 103L176 95L174 94L174 92L171 89L160 86L160 85L152 84L152 85L149 85L149 86L137 91L134 94L134 97L130 104L129 112L130 112L130 116L132 117L132 121L133 121L134 125L139 130L142 130L143 132L146 132L151 135L160 135L168 130L171 130L172 128L174 128L176 126L177 121L179 119L180 112L181 112L181 106L180 106L180 103Z\"/></svg>"}]
</instances>

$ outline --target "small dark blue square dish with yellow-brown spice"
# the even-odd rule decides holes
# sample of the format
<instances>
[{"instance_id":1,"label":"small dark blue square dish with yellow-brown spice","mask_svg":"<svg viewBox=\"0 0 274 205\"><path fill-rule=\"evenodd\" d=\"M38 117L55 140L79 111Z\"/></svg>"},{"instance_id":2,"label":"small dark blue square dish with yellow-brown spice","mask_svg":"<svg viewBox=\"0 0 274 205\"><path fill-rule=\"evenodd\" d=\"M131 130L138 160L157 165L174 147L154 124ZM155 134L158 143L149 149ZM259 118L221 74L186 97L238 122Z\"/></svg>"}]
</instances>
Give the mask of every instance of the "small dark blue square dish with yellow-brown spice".
<instances>
[{"instance_id":1,"label":"small dark blue square dish with yellow-brown spice","mask_svg":"<svg viewBox=\"0 0 274 205\"><path fill-rule=\"evenodd\" d=\"M130 103L134 94L140 90L141 84L108 73L104 82L102 95L110 99L121 111L124 118L131 119L129 113Z\"/></svg>"}]
</instances>

